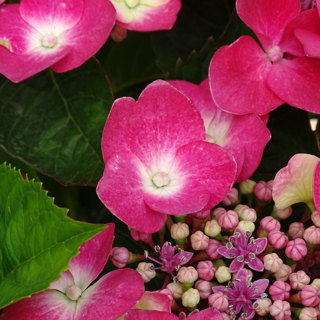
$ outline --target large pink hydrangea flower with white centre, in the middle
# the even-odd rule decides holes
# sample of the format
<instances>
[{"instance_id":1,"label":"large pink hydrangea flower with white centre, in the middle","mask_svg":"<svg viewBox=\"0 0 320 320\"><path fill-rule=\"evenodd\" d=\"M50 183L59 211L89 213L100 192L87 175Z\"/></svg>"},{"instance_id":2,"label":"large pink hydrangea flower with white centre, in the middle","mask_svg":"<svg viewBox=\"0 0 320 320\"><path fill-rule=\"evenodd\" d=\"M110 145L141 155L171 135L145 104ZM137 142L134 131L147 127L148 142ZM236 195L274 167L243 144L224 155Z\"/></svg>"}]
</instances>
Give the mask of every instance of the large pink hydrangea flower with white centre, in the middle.
<instances>
[{"instance_id":1,"label":"large pink hydrangea flower with white centre, in the middle","mask_svg":"<svg viewBox=\"0 0 320 320\"><path fill-rule=\"evenodd\" d=\"M211 209L228 194L236 164L204 140L196 107L167 82L154 81L138 101L117 99L102 136L106 168L98 196L116 217L146 233L160 230L166 214Z\"/></svg>"}]
</instances>

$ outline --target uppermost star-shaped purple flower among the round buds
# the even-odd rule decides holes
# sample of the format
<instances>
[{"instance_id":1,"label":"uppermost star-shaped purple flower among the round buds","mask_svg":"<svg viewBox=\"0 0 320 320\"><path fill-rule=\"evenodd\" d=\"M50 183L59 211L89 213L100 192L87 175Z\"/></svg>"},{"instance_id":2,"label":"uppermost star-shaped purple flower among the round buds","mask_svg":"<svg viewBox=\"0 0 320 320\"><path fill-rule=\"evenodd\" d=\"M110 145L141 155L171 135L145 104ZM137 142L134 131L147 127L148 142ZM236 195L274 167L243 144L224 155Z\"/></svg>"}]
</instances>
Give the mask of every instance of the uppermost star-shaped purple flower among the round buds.
<instances>
[{"instance_id":1,"label":"uppermost star-shaped purple flower among the round buds","mask_svg":"<svg viewBox=\"0 0 320 320\"><path fill-rule=\"evenodd\" d=\"M251 232L244 235L240 228L236 228L233 236L229 237L226 246L220 247L217 252L226 258L233 259L229 266L230 272L237 272L245 264L253 270L263 271L263 263L256 256L267 246L267 238L254 239Z\"/></svg>"}]
</instances>

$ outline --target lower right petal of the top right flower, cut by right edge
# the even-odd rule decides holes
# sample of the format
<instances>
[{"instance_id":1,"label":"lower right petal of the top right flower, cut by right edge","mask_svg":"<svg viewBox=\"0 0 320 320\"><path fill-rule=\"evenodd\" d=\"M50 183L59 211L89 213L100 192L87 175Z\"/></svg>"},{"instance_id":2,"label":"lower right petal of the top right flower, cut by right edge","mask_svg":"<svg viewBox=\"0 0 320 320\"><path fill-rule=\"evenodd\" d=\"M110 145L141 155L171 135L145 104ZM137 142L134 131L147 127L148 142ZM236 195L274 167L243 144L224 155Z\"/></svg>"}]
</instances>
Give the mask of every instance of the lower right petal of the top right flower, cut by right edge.
<instances>
[{"instance_id":1,"label":"lower right petal of the top right flower, cut by right edge","mask_svg":"<svg viewBox=\"0 0 320 320\"><path fill-rule=\"evenodd\" d=\"M267 77L269 88L293 107L320 113L320 60L281 59Z\"/></svg>"}]
</instances>

